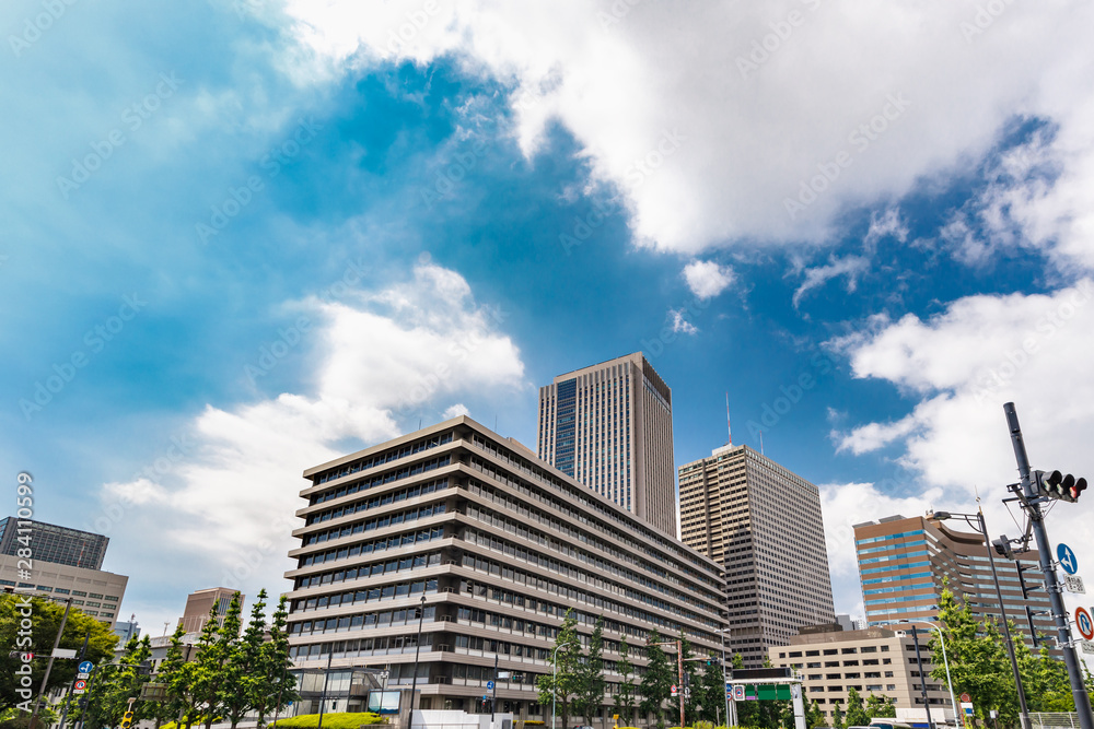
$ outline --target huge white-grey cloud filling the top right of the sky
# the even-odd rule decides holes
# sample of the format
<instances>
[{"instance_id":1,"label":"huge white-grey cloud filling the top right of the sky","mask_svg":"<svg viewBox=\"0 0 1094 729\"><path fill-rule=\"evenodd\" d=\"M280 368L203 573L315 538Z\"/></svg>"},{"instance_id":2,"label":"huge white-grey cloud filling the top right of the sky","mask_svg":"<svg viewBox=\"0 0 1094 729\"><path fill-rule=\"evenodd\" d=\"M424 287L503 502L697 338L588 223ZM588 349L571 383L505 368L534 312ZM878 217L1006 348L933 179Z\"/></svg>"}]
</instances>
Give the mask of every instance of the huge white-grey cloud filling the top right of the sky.
<instances>
[{"instance_id":1,"label":"huge white-grey cloud filling the top right of the sky","mask_svg":"<svg viewBox=\"0 0 1094 729\"><path fill-rule=\"evenodd\" d=\"M848 205L964 172L1017 116L1052 119L1061 151L1086 153L1026 211L1031 226L1083 227L1094 214L1083 205L1091 96L1076 93L1094 58L1090 5L1011 3L985 28L975 7L944 0L429 8L290 0L287 12L321 64L446 55L511 82L523 149L534 153L561 121L594 180L625 192L636 238L650 245L819 240ZM785 200L811 184L823 191L789 214Z\"/></svg>"}]
</instances>

